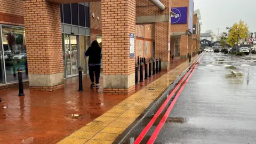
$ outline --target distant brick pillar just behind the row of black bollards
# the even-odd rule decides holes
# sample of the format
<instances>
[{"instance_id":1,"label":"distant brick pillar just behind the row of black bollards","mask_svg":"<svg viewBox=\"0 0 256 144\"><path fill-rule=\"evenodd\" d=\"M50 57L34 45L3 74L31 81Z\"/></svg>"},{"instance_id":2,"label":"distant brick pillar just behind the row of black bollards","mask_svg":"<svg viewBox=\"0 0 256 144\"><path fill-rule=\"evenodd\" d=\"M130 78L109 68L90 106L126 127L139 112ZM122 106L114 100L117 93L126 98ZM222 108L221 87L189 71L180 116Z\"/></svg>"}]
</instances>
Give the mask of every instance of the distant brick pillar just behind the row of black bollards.
<instances>
[{"instance_id":1,"label":"distant brick pillar just behind the row of black bollards","mask_svg":"<svg viewBox=\"0 0 256 144\"><path fill-rule=\"evenodd\" d=\"M162 59L162 69L170 67L169 45L171 42L171 22L156 22L155 24L155 57ZM171 47L170 47L171 49Z\"/></svg>"}]
</instances>

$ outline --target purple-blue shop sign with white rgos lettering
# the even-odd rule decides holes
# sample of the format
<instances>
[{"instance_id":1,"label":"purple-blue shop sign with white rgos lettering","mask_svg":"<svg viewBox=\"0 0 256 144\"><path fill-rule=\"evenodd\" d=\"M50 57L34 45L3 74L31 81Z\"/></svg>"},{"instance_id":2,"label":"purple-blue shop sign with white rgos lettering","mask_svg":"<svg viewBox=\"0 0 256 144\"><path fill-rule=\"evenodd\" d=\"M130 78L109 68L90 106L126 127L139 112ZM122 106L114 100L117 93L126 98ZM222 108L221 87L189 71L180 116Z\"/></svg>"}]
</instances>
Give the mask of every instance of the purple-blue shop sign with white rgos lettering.
<instances>
[{"instance_id":1,"label":"purple-blue shop sign with white rgos lettering","mask_svg":"<svg viewBox=\"0 0 256 144\"><path fill-rule=\"evenodd\" d=\"M171 24L187 23L188 7L172 7L171 11L175 13L171 14Z\"/></svg>"}]
</instances>

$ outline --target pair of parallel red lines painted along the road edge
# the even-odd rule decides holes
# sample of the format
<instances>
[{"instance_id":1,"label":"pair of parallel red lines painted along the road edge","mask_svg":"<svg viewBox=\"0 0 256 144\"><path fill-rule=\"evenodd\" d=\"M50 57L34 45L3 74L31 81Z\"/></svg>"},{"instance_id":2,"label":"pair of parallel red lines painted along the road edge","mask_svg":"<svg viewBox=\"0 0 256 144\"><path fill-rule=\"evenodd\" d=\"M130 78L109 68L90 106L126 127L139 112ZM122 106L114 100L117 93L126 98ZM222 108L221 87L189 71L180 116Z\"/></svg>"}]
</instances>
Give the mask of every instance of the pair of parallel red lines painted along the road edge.
<instances>
[{"instance_id":1,"label":"pair of parallel red lines painted along the road edge","mask_svg":"<svg viewBox=\"0 0 256 144\"><path fill-rule=\"evenodd\" d=\"M191 75L194 73L195 68L197 67L197 63L199 61L201 61L203 55L201 55L201 57L199 57L199 59L196 61L195 65L193 67L190 68L190 70L188 71L188 73L181 79L181 81L179 82L179 84L177 86L175 86L174 90L171 92L171 94L167 97L167 99L164 101L163 105L157 110L156 114L154 115L154 117L150 120L150 122L147 124L147 126L142 130L142 132L140 133L139 137L134 141L134 144L138 144L142 141L142 139L145 137L145 135L147 134L147 132L149 131L150 127L155 123L156 119L158 118L158 116L162 113L164 107L167 105L167 103L171 100L171 98L173 97L173 95L175 94L175 92L179 89L179 87L181 86L181 84L183 82L185 82L180 90L178 91L178 93L176 94L175 98L173 99L171 105L168 107L168 109L166 110L164 116L162 117L161 121L159 122L159 124L157 125L155 131L153 132L153 134L151 135L150 139L148 140L148 144L149 143L154 143L154 141L157 138L158 133L161 131L167 117L169 116L175 102L177 101L180 93L182 92L182 90L184 89L185 85L187 84L189 78L191 77ZM192 72L191 72L192 71ZM190 74L191 72L191 74ZM190 75L189 75L190 74ZM189 75L189 76L188 76ZM188 78L187 78L188 76ZM186 79L187 78L187 79Z\"/></svg>"}]
</instances>

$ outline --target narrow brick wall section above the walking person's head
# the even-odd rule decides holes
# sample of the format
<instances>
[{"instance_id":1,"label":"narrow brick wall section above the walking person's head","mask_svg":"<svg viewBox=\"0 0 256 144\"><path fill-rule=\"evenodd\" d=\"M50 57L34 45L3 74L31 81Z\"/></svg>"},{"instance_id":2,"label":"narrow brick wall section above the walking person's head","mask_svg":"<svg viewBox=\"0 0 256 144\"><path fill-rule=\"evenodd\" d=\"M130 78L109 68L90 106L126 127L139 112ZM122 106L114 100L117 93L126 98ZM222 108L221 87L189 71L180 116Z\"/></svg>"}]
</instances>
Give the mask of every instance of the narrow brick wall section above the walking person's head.
<instances>
[{"instance_id":1,"label":"narrow brick wall section above the walking person's head","mask_svg":"<svg viewBox=\"0 0 256 144\"><path fill-rule=\"evenodd\" d=\"M94 18L92 17L93 13L94 13ZM94 40L97 40L97 35L102 35L101 2L90 2L90 26L91 26L91 42L92 42Z\"/></svg>"}]
</instances>

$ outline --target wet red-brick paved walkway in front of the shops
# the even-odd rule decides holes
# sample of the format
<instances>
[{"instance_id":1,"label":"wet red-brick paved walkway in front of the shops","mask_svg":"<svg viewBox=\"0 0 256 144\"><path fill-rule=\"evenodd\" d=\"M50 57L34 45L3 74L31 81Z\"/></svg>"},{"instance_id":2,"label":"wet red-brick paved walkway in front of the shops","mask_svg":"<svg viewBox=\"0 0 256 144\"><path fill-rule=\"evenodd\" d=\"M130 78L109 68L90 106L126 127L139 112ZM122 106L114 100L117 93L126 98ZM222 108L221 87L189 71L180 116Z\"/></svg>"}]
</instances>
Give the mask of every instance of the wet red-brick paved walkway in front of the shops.
<instances>
[{"instance_id":1,"label":"wet red-brick paved walkway in front of the shops","mask_svg":"<svg viewBox=\"0 0 256 144\"><path fill-rule=\"evenodd\" d=\"M171 69L182 62L175 59ZM136 91L165 73L140 83ZM129 97L103 94L102 87L90 89L88 75L83 79L84 92L77 92L77 84L78 78L74 77L54 92L26 88L25 97L17 96L17 87L0 91L0 143L56 143Z\"/></svg>"}]
</instances>

